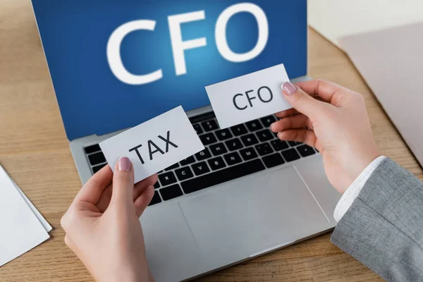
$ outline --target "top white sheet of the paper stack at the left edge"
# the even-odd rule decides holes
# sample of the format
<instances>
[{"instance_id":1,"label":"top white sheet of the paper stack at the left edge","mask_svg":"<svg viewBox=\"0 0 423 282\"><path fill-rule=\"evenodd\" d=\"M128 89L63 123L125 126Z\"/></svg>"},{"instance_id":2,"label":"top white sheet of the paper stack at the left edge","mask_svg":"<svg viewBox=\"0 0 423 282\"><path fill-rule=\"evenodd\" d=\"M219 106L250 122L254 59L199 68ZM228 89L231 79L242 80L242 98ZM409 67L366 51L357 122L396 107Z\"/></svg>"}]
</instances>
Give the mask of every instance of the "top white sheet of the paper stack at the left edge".
<instances>
[{"instance_id":1,"label":"top white sheet of the paper stack at the left edge","mask_svg":"<svg viewBox=\"0 0 423 282\"><path fill-rule=\"evenodd\" d=\"M0 228L0 266L50 237L3 168L0 169Z\"/></svg>"}]
</instances>

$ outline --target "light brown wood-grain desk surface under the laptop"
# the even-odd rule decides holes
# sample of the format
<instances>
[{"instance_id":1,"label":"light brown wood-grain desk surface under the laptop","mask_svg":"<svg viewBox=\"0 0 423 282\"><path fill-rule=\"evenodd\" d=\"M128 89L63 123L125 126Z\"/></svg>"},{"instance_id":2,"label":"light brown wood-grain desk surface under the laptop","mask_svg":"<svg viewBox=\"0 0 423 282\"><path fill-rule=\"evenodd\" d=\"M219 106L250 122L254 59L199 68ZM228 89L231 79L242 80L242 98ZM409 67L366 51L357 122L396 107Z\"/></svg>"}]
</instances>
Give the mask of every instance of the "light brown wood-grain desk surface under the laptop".
<instances>
[{"instance_id":1,"label":"light brown wood-grain desk surface under the laptop","mask_svg":"<svg viewBox=\"0 0 423 282\"><path fill-rule=\"evenodd\" d=\"M309 75L363 93L381 153L423 179L422 168L348 57L313 30ZM29 0L0 0L0 163L54 227L47 242L1 266L0 281L91 281L63 243L60 219L81 183ZM381 281L329 237L321 235L199 281Z\"/></svg>"}]
</instances>

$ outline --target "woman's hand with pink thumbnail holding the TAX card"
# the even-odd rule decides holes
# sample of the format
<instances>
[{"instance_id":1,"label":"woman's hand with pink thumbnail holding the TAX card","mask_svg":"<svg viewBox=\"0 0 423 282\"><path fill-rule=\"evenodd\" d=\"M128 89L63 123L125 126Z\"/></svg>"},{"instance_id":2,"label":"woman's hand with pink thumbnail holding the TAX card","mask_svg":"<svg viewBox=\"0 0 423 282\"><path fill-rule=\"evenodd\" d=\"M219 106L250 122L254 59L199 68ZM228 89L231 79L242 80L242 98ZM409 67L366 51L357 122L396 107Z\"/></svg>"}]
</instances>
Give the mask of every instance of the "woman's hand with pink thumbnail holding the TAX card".
<instances>
[{"instance_id":1,"label":"woman's hand with pink thumbnail holding the TAX card","mask_svg":"<svg viewBox=\"0 0 423 282\"><path fill-rule=\"evenodd\" d=\"M123 157L114 173L109 166L95 173L63 215L65 243L96 281L153 281L139 217L156 182L154 175L134 185L133 166Z\"/></svg>"}]
</instances>

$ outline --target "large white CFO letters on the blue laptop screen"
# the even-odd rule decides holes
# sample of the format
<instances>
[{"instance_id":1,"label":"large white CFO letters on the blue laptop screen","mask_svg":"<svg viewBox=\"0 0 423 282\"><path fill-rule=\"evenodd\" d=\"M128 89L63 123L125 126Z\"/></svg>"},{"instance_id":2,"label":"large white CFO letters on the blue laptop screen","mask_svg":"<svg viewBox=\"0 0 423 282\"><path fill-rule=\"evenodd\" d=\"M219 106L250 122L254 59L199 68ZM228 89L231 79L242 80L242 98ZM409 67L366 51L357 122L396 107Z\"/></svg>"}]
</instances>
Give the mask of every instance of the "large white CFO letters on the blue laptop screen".
<instances>
[{"instance_id":1,"label":"large white CFO letters on the blue laptop screen","mask_svg":"<svg viewBox=\"0 0 423 282\"><path fill-rule=\"evenodd\" d=\"M226 25L228 20L237 13L251 13L252 16L257 20L258 26L258 37L255 47L249 51L239 54L233 52L226 39ZM206 37L197 39L191 39L183 41L182 32L180 29L181 23L189 23L197 20L205 19L205 11L194 11L190 13L180 13L177 15L168 16L168 27L171 35L171 45L173 52L173 61L175 63L176 75L184 75L187 73L185 65L185 50L200 48L207 46ZM150 82L154 82L163 77L161 69L152 73L143 75L135 75L130 73L121 59L121 43L126 35L135 30L149 30L154 31L156 26L155 20L142 19L133 20L129 23L125 23L111 34L109 42L107 43L107 60L111 71L114 73L118 80L125 82L130 85L143 85ZM259 56L266 47L267 39L269 37L269 23L266 18L266 14L256 4L251 3L240 3L229 6L219 16L216 21L214 29L214 36L216 40L216 47L223 58L234 63L240 63L244 61L250 61Z\"/></svg>"}]
</instances>

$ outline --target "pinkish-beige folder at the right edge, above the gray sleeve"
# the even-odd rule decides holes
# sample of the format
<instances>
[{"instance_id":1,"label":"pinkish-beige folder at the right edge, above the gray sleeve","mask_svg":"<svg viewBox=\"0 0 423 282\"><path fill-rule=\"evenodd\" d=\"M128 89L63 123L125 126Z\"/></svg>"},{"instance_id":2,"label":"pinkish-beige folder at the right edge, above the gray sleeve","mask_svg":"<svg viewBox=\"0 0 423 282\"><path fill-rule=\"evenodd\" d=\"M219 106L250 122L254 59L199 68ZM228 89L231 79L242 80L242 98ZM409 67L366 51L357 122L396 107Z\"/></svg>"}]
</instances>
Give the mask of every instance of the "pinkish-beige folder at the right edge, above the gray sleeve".
<instances>
[{"instance_id":1,"label":"pinkish-beige folder at the right edge, above the gray sleeve","mask_svg":"<svg viewBox=\"0 0 423 282\"><path fill-rule=\"evenodd\" d=\"M423 23L339 39L423 166Z\"/></svg>"}]
</instances>

